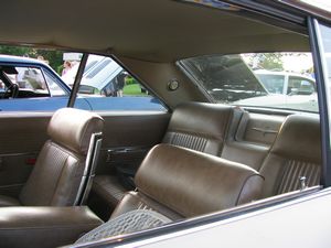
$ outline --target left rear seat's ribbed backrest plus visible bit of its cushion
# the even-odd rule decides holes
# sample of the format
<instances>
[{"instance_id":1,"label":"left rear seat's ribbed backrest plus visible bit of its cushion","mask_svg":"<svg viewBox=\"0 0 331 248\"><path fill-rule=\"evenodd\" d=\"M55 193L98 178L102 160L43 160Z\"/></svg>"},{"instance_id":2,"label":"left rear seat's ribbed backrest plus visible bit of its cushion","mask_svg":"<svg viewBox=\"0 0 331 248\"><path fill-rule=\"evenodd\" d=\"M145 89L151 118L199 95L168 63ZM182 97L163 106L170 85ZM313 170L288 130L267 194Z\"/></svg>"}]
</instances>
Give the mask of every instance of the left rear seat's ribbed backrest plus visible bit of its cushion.
<instances>
[{"instance_id":1,"label":"left rear seat's ribbed backrest plus visible bit of its cushion","mask_svg":"<svg viewBox=\"0 0 331 248\"><path fill-rule=\"evenodd\" d=\"M178 106L170 119L163 143L218 155L236 108L205 103ZM113 207L126 193L116 175L95 177L93 192Z\"/></svg>"}]
</instances>

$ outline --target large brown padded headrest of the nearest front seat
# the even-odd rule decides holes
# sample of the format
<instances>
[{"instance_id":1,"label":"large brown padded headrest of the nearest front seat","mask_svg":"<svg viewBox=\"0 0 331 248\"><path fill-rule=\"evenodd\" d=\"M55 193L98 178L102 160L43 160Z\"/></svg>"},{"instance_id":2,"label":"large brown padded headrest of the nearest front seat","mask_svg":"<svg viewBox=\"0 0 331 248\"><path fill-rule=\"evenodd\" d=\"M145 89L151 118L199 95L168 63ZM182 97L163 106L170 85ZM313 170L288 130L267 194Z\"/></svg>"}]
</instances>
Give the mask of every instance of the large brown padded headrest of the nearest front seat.
<instances>
[{"instance_id":1,"label":"large brown padded headrest of the nearest front seat","mask_svg":"<svg viewBox=\"0 0 331 248\"><path fill-rule=\"evenodd\" d=\"M256 200L263 181L244 164L170 144L151 149L135 177L138 192L184 217Z\"/></svg>"}]
</instances>

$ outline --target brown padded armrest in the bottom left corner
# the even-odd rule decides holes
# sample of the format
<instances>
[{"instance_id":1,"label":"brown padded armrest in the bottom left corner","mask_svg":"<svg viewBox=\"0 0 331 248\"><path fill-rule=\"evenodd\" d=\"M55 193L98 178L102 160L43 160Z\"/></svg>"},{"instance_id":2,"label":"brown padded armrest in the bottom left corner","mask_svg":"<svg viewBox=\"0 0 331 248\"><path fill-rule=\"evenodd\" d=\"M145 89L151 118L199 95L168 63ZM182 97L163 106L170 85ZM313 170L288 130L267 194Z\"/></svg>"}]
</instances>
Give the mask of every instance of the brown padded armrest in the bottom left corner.
<instances>
[{"instance_id":1,"label":"brown padded armrest in the bottom left corner","mask_svg":"<svg viewBox=\"0 0 331 248\"><path fill-rule=\"evenodd\" d=\"M57 247L103 224L88 207L1 207L2 247Z\"/></svg>"}]
</instances>

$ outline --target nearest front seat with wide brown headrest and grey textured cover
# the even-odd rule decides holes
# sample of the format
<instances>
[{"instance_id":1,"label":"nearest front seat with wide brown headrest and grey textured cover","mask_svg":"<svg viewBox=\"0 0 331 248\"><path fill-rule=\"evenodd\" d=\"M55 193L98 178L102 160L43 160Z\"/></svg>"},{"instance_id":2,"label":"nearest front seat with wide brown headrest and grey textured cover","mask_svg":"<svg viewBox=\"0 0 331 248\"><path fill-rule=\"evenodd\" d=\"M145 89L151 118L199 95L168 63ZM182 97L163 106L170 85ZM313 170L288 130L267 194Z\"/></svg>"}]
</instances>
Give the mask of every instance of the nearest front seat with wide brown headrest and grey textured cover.
<instances>
[{"instance_id":1,"label":"nearest front seat with wide brown headrest and grey textured cover","mask_svg":"<svg viewBox=\"0 0 331 248\"><path fill-rule=\"evenodd\" d=\"M263 182L257 171L244 164L159 144L151 149L135 176L137 190L125 194L108 223L78 242L153 227L146 226L146 220L143 226L137 225L141 209L157 212L171 222L249 203L259 198ZM128 214L129 218L121 218Z\"/></svg>"}]
</instances>

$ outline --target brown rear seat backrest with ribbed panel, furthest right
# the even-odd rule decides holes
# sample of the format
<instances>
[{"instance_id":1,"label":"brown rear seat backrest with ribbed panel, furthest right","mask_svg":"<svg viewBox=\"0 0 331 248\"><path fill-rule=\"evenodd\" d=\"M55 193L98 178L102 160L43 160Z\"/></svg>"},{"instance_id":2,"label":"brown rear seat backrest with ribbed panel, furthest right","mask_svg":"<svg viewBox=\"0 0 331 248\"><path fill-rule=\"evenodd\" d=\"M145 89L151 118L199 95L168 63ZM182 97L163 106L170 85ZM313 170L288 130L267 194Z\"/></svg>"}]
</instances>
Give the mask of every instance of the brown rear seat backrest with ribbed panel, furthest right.
<instances>
[{"instance_id":1,"label":"brown rear seat backrest with ribbed panel, furthest right","mask_svg":"<svg viewBox=\"0 0 331 248\"><path fill-rule=\"evenodd\" d=\"M318 185L321 174L319 119L288 116L259 172L265 177L264 197L299 190L303 176L307 186Z\"/></svg>"}]
</instances>

